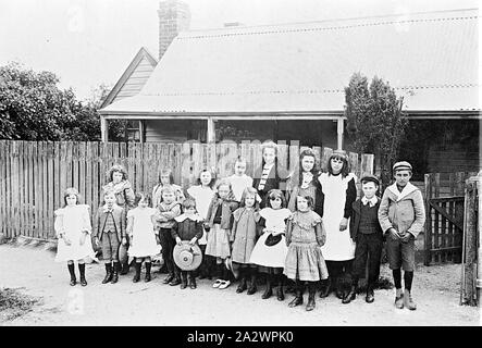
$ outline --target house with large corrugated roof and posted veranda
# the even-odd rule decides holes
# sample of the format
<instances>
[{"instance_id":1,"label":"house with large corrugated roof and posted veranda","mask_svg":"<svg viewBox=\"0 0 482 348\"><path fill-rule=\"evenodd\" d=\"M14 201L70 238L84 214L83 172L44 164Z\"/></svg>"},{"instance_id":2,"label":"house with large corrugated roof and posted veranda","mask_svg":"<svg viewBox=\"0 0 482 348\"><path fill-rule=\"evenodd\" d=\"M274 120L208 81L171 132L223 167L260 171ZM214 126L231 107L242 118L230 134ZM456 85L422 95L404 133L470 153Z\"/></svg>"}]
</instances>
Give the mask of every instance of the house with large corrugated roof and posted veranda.
<instances>
[{"instance_id":1,"label":"house with large corrugated roof and posted veranda","mask_svg":"<svg viewBox=\"0 0 482 348\"><path fill-rule=\"evenodd\" d=\"M478 22L468 9L180 30L141 90L99 111L102 139L110 120L131 120L140 141L271 138L349 148L344 87L360 72L390 82L410 123L450 129L417 145L427 163L430 151L442 151L479 170ZM467 129L468 142L458 144Z\"/></svg>"}]
</instances>

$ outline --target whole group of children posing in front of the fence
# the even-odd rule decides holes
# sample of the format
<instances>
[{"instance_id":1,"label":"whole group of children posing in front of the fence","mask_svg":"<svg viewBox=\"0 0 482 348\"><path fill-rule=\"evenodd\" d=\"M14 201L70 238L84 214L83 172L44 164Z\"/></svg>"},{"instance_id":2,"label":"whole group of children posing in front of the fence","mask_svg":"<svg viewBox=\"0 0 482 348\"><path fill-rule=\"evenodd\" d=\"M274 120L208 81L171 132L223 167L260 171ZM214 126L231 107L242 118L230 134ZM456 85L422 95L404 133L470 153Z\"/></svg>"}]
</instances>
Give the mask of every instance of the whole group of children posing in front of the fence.
<instances>
[{"instance_id":1,"label":"whole group of children posing in front of the fence","mask_svg":"<svg viewBox=\"0 0 482 348\"><path fill-rule=\"evenodd\" d=\"M307 153L300 158L299 185L287 189L280 185L283 182L280 172L272 175L276 156L275 151L270 153L269 150L263 151L263 166L257 171L255 179L245 174L247 163L238 158L232 176L217 181L211 170L202 170L197 185L185 192L173 183L172 171L163 170L151 195L134 194L125 170L114 165L109 173L110 182L103 187L103 204L94 219L94 228L90 226L89 207L81 204L78 191L75 188L65 190L65 206L55 211L57 261L67 261L70 284L75 285L74 260L78 260L81 285L86 286L84 260L95 258L92 240L102 249L106 265L102 284L116 283L121 271L119 250L125 247L128 257L135 259L133 282L137 283L143 262L145 281L151 281L152 257L162 252L168 271L162 281L164 284L194 289L197 287L196 277L199 277L213 279L213 288L224 289L236 274L239 279L236 293L247 290L248 295L252 295L257 291L258 275L263 274L263 299L270 298L276 286L276 298L284 300L287 281L295 293L288 306L301 304L307 287L306 310L313 310L320 281L331 276L323 248L327 239L332 238L332 244L336 239L325 229L329 202L323 199L324 195L330 195L326 188L322 189L323 179L319 173L312 174L313 171L306 171L308 174L302 172L301 166L314 166L314 156ZM301 161L307 157L312 157L312 164L308 163L311 159ZM336 156L333 159L336 160ZM395 183L387 187L382 199L375 195L379 179L373 175L362 177L361 198L349 202L349 225L348 220L344 220L346 217L339 224L338 233L346 231L350 243L356 245L354 260L350 260L354 268L351 286L341 297L343 303L356 298L358 279L364 275L367 260L366 301L373 302L386 235L396 287L395 304L397 308L416 309L410 291L415 238L424 221L423 202L420 190L409 183L410 164L396 163L394 173ZM346 189L347 185L344 187ZM186 271L174 262L175 246L183 244L200 248L202 262L197 270ZM125 268L124 273L128 265ZM405 297L400 268L405 271Z\"/></svg>"}]
</instances>

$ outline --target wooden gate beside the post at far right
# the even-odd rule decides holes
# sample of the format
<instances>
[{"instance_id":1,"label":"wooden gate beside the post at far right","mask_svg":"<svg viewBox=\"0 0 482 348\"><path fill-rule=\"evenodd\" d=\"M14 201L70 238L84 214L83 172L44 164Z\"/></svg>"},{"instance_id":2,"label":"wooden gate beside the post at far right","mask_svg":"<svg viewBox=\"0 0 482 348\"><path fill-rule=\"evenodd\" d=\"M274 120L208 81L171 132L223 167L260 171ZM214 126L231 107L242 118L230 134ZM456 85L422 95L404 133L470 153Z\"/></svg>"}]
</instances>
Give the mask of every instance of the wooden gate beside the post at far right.
<instances>
[{"instance_id":1,"label":"wooden gate beside the post at far right","mask_svg":"<svg viewBox=\"0 0 482 348\"><path fill-rule=\"evenodd\" d=\"M425 174L425 265L431 262L461 262L465 182L474 174Z\"/></svg>"}]
</instances>

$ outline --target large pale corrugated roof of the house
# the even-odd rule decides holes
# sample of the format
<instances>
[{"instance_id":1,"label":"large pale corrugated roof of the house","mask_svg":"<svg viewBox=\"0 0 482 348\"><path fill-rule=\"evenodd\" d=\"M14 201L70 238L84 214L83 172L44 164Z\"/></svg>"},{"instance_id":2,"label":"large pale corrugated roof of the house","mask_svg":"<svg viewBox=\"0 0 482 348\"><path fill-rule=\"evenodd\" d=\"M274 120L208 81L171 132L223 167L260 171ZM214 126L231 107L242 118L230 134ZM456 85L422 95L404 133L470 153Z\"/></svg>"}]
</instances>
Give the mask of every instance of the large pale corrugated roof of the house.
<instances>
[{"instance_id":1,"label":"large pale corrugated roof of the house","mask_svg":"<svg viewBox=\"0 0 482 348\"><path fill-rule=\"evenodd\" d=\"M477 9L181 33L102 114L343 112L355 72L411 112L479 110Z\"/></svg>"}]
</instances>

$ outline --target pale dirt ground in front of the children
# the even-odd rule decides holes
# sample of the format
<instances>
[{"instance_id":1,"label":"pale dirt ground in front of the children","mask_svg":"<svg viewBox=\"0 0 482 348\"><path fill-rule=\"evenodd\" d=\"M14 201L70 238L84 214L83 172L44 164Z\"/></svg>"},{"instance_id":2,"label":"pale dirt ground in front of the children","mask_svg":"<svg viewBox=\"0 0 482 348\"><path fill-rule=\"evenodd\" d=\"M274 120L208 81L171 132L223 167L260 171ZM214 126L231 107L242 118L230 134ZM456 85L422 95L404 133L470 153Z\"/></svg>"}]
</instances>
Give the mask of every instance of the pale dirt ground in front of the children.
<instances>
[{"instance_id":1,"label":"pale dirt ground in front of the children","mask_svg":"<svg viewBox=\"0 0 482 348\"><path fill-rule=\"evenodd\" d=\"M0 245L0 288L15 288L38 299L32 311L13 320L0 316L0 325L480 325L477 308L459 306L460 265L419 265L413 282L417 311L394 307L394 289L376 290L374 303L364 296L342 304L334 295L318 298L312 312L305 304L288 308L293 295L280 302L236 294L236 285L220 290L211 281L198 281L195 290L161 283L155 268L150 283L132 283L133 271L118 284L102 285L104 269L87 264L87 287L69 285L63 263L42 247ZM76 272L78 272L76 270ZM382 275L390 275L386 264ZM144 270L143 270L144 273ZM305 303L307 301L305 295Z\"/></svg>"}]
</instances>

